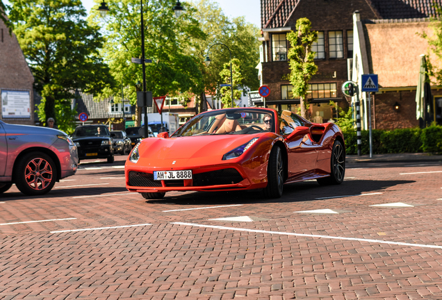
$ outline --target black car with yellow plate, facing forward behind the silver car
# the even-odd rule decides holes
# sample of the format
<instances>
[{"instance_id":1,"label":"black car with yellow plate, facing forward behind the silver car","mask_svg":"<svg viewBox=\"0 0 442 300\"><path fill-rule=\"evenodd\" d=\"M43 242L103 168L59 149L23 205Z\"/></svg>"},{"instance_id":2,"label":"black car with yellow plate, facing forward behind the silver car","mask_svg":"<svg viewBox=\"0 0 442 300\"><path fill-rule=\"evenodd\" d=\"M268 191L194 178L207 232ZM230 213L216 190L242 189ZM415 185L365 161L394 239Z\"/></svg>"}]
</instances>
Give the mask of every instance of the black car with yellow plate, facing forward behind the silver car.
<instances>
[{"instance_id":1,"label":"black car with yellow plate, facing forward behind the silver car","mask_svg":"<svg viewBox=\"0 0 442 300\"><path fill-rule=\"evenodd\" d=\"M113 138L106 126L78 126L72 140L78 148L79 160L107 158L108 163L113 163Z\"/></svg>"}]
</instances>

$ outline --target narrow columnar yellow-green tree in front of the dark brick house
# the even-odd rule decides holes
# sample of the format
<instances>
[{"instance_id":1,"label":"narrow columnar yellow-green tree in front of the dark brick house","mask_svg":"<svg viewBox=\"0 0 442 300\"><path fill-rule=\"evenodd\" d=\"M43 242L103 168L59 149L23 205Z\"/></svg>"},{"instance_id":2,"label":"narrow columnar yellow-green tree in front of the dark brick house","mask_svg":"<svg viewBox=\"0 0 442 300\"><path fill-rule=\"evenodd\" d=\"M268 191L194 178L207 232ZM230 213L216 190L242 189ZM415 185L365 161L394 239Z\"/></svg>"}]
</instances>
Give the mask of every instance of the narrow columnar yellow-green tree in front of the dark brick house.
<instances>
[{"instance_id":1,"label":"narrow columnar yellow-green tree in front of the dark brick house","mask_svg":"<svg viewBox=\"0 0 442 300\"><path fill-rule=\"evenodd\" d=\"M311 77L318 72L315 65L315 52L311 51L311 45L318 40L318 31L311 31L311 22L307 18L296 21L296 32L290 31L287 40L291 48L288 50L288 63L290 65L290 83L293 85L292 92L300 97L301 116L307 118L306 109L309 100L306 99Z\"/></svg>"}]
</instances>

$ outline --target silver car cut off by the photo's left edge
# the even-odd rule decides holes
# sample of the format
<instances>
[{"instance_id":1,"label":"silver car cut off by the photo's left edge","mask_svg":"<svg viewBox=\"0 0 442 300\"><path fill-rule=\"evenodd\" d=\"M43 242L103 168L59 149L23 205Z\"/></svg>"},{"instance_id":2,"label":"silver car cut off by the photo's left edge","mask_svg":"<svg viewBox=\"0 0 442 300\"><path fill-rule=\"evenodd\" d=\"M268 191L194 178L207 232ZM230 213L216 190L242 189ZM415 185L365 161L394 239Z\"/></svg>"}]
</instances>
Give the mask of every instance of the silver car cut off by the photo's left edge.
<instances>
[{"instance_id":1,"label":"silver car cut off by the photo's left edge","mask_svg":"<svg viewBox=\"0 0 442 300\"><path fill-rule=\"evenodd\" d=\"M74 175L77 149L63 131L0 121L0 194L15 183L20 192L42 195Z\"/></svg>"}]
</instances>

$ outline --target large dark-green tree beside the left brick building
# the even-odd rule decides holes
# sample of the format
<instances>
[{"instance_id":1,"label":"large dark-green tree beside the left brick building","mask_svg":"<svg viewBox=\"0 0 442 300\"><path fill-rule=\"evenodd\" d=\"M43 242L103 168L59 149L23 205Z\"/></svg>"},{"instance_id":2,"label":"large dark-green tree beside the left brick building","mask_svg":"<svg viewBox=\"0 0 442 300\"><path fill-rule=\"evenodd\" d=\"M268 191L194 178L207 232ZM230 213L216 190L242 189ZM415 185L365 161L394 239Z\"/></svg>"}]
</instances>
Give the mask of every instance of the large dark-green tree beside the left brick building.
<instances>
[{"instance_id":1,"label":"large dark-green tree beside the left brick building","mask_svg":"<svg viewBox=\"0 0 442 300\"><path fill-rule=\"evenodd\" d=\"M71 99L75 89L97 93L114 84L99 56L104 39L97 26L83 19L80 0L10 0L14 33L42 96L40 121L56 119L58 128L73 129Z\"/></svg>"}]
</instances>

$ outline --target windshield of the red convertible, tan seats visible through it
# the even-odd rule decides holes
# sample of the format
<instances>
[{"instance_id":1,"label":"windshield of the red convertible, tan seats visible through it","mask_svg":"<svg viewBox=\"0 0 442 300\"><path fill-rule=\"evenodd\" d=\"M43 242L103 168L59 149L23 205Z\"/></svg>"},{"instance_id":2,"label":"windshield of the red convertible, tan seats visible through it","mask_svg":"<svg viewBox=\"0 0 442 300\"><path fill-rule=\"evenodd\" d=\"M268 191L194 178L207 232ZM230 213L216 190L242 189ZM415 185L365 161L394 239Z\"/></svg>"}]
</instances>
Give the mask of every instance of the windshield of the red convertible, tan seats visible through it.
<instances>
[{"instance_id":1,"label":"windshield of the red convertible, tan seats visible through it","mask_svg":"<svg viewBox=\"0 0 442 300\"><path fill-rule=\"evenodd\" d=\"M237 108L212 110L199 114L181 126L172 137L260 132L275 132L274 112L254 108Z\"/></svg>"}]
</instances>

